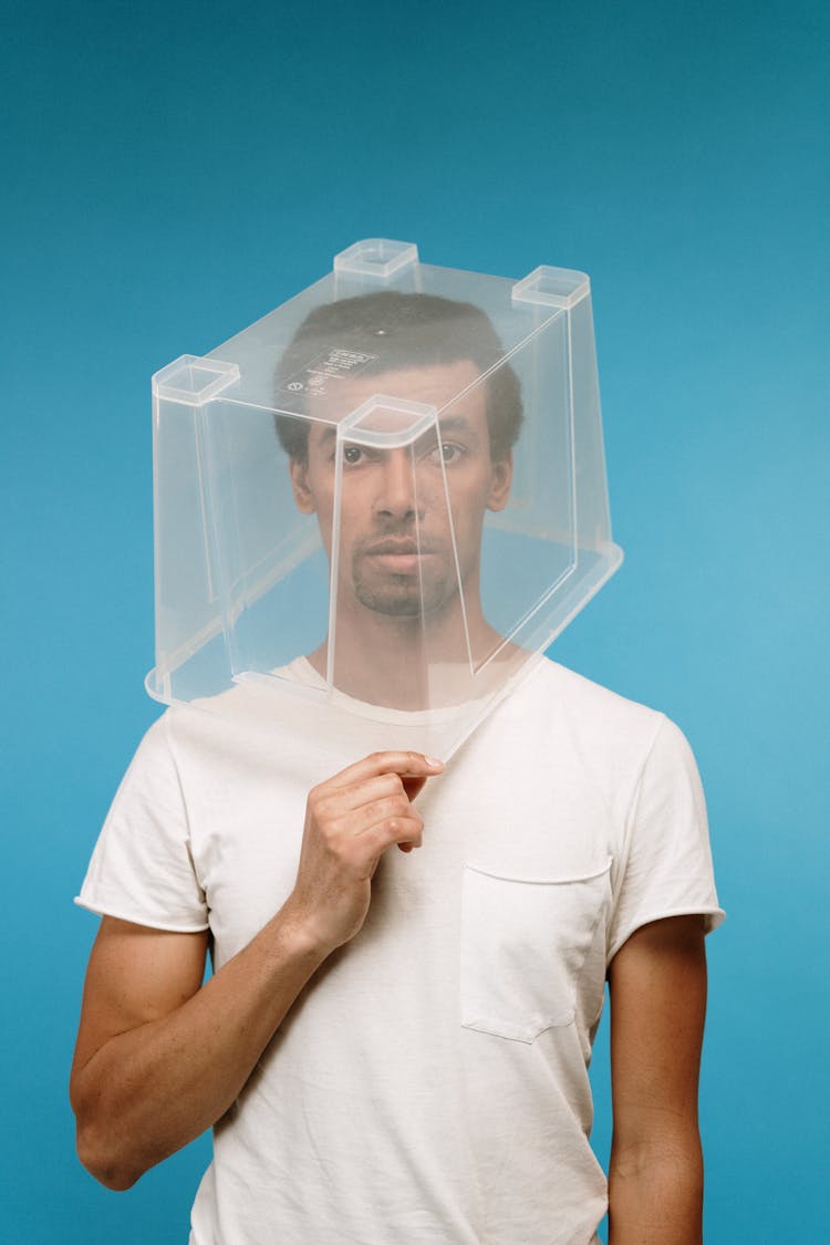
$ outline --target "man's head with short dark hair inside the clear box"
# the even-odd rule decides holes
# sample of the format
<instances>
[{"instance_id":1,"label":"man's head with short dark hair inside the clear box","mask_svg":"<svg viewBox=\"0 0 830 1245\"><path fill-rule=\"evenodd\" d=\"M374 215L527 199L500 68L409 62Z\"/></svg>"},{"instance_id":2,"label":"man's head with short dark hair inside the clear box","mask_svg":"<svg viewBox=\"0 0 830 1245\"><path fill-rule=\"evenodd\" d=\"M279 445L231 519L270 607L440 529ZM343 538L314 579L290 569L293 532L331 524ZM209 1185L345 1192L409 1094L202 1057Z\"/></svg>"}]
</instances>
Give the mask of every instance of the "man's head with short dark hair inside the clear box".
<instances>
[{"instance_id":1,"label":"man's head with short dark hair inside the clear box","mask_svg":"<svg viewBox=\"0 0 830 1245\"><path fill-rule=\"evenodd\" d=\"M302 393L307 417L277 416L297 507L317 515L331 557L338 540L338 616L437 620L479 613L485 510L508 500L519 382L489 319L470 304L383 291L330 304L301 325L277 386ZM487 381L477 383L494 369ZM411 443L340 443L337 426L375 395L439 412ZM404 438L406 439L406 438Z\"/></svg>"}]
</instances>

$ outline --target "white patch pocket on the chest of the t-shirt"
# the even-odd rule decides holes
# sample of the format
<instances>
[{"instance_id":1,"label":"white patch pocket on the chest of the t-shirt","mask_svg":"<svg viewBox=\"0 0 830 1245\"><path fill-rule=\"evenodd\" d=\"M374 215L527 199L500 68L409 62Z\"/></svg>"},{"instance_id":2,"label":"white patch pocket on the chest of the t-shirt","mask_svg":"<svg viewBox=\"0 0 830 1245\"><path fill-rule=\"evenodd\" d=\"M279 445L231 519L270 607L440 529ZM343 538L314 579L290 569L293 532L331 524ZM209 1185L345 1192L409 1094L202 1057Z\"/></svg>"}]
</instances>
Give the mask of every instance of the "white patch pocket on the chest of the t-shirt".
<instances>
[{"instance_id":1,"label":"white patch pocket on the chest of the t-shirt","mask_svg":"<svg viewBox=\"0 0 830 1245\"><path fill-rule=\"evenodd\" d=\"M579 977L610 900L611 860L575 878L503 878L464 865L460 1010L465 1028L534 1042L570 1025Z\"/></svg>"}]
</instances>

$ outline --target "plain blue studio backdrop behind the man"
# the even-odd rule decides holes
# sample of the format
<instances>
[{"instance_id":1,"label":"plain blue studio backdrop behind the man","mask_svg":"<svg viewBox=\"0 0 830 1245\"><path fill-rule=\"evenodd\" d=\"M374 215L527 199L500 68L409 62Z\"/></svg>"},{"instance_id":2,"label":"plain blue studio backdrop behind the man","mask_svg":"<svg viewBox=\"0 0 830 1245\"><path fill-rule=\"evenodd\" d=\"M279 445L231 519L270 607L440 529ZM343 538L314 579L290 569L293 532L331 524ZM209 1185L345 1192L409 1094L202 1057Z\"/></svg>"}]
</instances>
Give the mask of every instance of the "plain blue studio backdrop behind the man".
<instances>
[{"instance_id":1,"label":"plain blue studio backdrop behind the man","mask_svg":"<svg viewBox=\"0 0 830 1245\"><path fill-rule=\"evenodd\" d=\"M116 1195L66 1102L71 900L157 712L149 375L372 235L592 276L627 561L555 655L672 715L707 786L708 1245L821 1239L826 4L4 12L2 1239L187 1239L205 1140ZM604 1038L595 1073L605 1154Z\"/></svg>"}]
</instances>

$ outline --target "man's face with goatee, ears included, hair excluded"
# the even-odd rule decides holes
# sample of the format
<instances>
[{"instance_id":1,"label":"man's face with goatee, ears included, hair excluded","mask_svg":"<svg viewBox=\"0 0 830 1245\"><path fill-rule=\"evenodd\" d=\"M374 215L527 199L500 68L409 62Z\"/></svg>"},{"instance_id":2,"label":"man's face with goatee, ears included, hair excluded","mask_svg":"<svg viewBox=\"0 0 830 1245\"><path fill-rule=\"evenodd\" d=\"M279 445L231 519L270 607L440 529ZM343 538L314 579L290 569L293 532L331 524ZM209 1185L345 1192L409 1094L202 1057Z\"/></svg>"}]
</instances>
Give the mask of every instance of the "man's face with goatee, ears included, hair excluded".
<instances>
[{"instance_id":1,"label":"man's face with goatee, ears included, hair excluded","mask_svg":"<svg viewBox=\"0 0 830 1245\"><path fill-rule=\"evenodd\" d=\"M475 365L462 360L343 378L336 396L311 401L310 413L336 422L375 393L441 410L478 376ZM490 459L484 388L479 385L447 407L439 438L433 431L394 449L343 443L338 590L365 609L416 618L453 608L459 576L465 593L478 593L484 512L505 505L511 474L509 456ZM336 456L333 425L312 422L307 462L291 462L297 507L317 514L330 557Z\"/></svg>"}]
</instances>

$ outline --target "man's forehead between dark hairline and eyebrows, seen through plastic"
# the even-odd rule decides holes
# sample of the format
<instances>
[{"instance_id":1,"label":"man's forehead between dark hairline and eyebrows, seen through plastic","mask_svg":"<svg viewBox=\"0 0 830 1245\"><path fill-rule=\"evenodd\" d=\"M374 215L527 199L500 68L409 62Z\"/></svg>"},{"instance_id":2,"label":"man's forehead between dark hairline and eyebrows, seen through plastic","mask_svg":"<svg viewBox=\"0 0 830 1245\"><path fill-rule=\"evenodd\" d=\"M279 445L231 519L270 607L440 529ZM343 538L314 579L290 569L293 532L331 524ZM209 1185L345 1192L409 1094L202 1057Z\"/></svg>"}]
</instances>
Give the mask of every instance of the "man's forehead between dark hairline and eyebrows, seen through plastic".
<instances>
[{"instance_id":1,"label":"man's forehead between dark hairline and eyebrows, seen through plastic","mask_svg":"<svg viewBox=\"0 0 830 1245\"><path fill-rule=\"evenodd\" d=\"M480 371L470 360L429 364L392 371L343 376L325 393L309 395L307 411L321 425L340 423L376 393L407 402L434 406L444 416L464 417L470 423L485 418L484 386L475 382ZM317 425L320 427L320 425ZM315 425L312 425L314 432ZM320 432L324 430L320 428Z\"/></svg>"}]
</instances>

